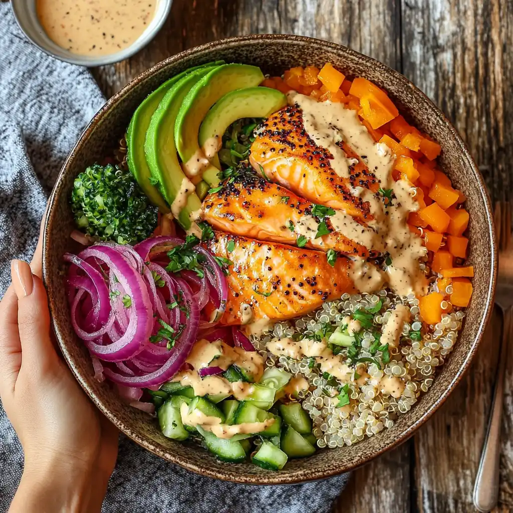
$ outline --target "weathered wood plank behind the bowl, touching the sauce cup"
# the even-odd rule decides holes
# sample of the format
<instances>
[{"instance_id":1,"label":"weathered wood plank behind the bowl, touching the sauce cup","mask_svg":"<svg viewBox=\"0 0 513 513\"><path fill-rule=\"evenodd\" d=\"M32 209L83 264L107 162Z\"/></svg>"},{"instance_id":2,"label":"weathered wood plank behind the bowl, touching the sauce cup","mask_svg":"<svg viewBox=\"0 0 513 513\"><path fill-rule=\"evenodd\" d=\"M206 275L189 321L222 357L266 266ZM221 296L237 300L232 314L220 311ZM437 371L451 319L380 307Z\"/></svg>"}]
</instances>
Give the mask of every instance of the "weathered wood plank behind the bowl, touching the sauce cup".
<instances>
[{"instance_id":1,"label":"weathered wood plank behind the bowl, touching the sauce cup","mask_svg":"<svg viewBox=\"0 0 513 513\"><path fill-rule=\"evenodd\" d=\"M104 93L110 96L131 78L174 53L250 33L318 37L350 46L401 69L400 4L394 0L174 0L165 27L146 49L128 61L104 66L93 73ZM354 472L334 511L409 511L411 446L411 442L403 444Z\"/></svg>"}]
</instances>

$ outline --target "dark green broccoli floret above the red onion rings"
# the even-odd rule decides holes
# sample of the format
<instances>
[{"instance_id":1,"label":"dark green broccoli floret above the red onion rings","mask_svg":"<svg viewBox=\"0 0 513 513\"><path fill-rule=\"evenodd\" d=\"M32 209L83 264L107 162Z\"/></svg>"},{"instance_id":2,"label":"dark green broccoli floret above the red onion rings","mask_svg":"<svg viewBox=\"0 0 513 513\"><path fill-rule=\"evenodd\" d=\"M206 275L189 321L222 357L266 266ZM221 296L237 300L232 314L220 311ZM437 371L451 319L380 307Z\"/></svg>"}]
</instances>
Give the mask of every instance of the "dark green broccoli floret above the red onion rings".
<instances>
[{"instance_id":1,"label":"dark green broccoli floret above the red onion rings","mask_svg":"<svg viewBox=\"0 0 513 513\"><path fill-rule=\"evenodd\" d=\"M157 224L157 207L130 173L111 164L93 164L76 177L71 209L78 229L100 241L135 244Z\"/></svg>"}]
</instances>

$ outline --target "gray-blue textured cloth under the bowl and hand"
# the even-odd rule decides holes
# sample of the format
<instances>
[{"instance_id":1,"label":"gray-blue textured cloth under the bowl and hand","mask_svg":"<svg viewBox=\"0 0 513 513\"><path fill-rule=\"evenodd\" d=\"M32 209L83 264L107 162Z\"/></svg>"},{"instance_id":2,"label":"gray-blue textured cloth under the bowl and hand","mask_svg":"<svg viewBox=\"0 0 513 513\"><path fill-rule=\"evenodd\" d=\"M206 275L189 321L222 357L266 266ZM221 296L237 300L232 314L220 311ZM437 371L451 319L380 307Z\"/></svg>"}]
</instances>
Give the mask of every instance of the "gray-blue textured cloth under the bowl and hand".
<instances>
[{"instance_id":1,"label":"gray-blue textured cloth under the bowl and hand","mask_svg":"<svg viewBox=\"0 0 513 513\"><path fill-rule=\"evenodd\" d=\"M31 46L9 4L0 4L0 297L10 283L10 259L32 257L57 173L104 101L86 69ZM22 468L22 448L0 405L0 512L7 511ZM341 476L291 486L226 483L168 464L121 437L103 511L324 512L346 482Z\"/></svg>"}]
</instances>

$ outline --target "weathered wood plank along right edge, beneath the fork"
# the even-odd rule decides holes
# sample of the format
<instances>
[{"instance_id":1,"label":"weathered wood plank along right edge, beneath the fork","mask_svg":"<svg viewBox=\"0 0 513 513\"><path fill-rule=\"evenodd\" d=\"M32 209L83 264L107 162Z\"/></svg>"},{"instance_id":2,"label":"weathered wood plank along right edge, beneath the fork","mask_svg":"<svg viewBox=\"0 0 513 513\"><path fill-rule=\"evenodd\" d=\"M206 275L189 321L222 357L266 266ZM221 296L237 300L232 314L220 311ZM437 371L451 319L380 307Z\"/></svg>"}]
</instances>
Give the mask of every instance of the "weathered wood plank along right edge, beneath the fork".
<instances>
[{"instance_id":1,"label":"weathered wood plank along right edge, beneath the fork","mask_svg":"<svg viewBox=\"0 0 513 513\"><path fill-rule=\"evenodd\" d=\"M506 0L403 0L403 72L455 124L495 199L513 179L506 115L513 106L507 56L513 9ZM418 507L426 512L469 511L486 432L497 362L495 319L475 362L457 390L415 438ZM511 384L509 364L508 384ZM506 385L506 390L511 388ZM500 507L513 507L513 401L503 420Z\"/></svg>"}]
</instances>

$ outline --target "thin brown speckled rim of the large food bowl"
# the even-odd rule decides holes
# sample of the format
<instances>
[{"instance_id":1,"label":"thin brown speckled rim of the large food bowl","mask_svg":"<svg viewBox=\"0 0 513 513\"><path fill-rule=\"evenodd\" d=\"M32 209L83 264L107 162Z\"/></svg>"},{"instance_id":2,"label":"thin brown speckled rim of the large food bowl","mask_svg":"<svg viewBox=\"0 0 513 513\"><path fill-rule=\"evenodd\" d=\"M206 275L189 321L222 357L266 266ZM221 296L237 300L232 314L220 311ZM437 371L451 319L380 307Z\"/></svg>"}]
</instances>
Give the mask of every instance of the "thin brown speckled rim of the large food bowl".
<instances>
[{"instance_id":1,"label":"thin brown speckled rim of the large food bowl","mask_svg":"<svg viewBox=\"0 0 513 513\"><path fill-rule=\"evenodd\" d=\"M456 129L452 126L452 124L449 122L449 120L445 117L445 115L438 109L438 107L433 104L429 98L415 85L413 85L405 76L403 76L398 71L392 70L391 68L388 68L384 64L380 63L379 61L376 61L372 59L371 57L368 57L366 55L362 55L361 53L351 50L347 47L344 47L342 45L337 45L335 43L330 43L322 40L318 40L311 37L305 37L305 36L298 36L298 35L286 35L286 34L255 34L255 35L249 35L249 36L240 36L240 37L230 37L226 38L224 40L215 41L212 43L207 43L205 45L201 45L198 47L191 48L189 50L185 50L181 53L178 53L176 55L173 55L172 57L167 58L165 61L162 61L152 68L148 69L147 71L144 71L139 76L135 77L130 83L128 83L123 89L121 89L119 92L114 94L106 102L106 104L96 113L96 115L93 117L91 122L87 125L84 132L80 136L80 139L78 139L76 145L71 150L70 154L68 155L66 162L63 165L63 168L57 177L57 181L55 184L55 187L50 195L49 199L49 206L47 211L47 216L45 220L45 229L44 229L44 236L43 236L43 279L46 283L46 275L47 275L47 269L49 266L49 248L47 246L49 231L50 231L50 225L54 221L53 214L54 214L54 203L56 201L57 196L60 194L61 186L62 186L62 178L63 176L68 172L71 162L74 159L75 154L81 149L82 145L84 144L84 141L89 137L91 131L96 126L98 122L102 119L102 117L111 109L115 109L120 102L123 101L123 98L127 91L129 91L131 88L133 88L136 84L138 84L141 81L144 81L148 76L152 75L153 73L156 73L157 71L161 70L162 68L166 67L169 64L176 63L180 60L182 60L184 57L190 56L190 55L197 55L201 54L203 52L208 52L213 49L230 49L234 46L238 46L241 43L245 44L263 44L265 42L283 42L283 43L294 43L296 45L304 45L305 48L315 48L319 50L333 50L337 52L345 52L348 56L351 56L353 58L360 58L363 60L366 60L370 64L376 66L377 68L382 69L387 74L394 75L394 78L398 81L398 84L401 87L404 88L410 88L413 90L414 93L422 96L425 101L427 101L429 104L433 107L433 112L438 117L438 121L442 123L444 130L447 130L450 132L452 137L455 139L455 141L459 145L459 149L461 152L462 157L464 157L464 160L466 161L465 164L472 169L473 174L477 182L479 183L479 194L480 194L480 200L483 202L486 208L486 219L484 220L486 223L486 227L483 226L483 230L487 230L487 235L489 236L489 239L491 241L491 273L489 276L489 285L487 289L486 294L486 305L485 310L483 313L483 317L481 319L481 322L479 323L479 326L477 328L476 337L474 341L472 342L470 346L470 350L466 354L466 358L463 360L463 362L460 364L458 371L453 376L450 384L444 392L440 395L437 401L435 401L426 411L422 413L422 415L417 419L415 422L410 424L406 429L404 429L400 436L398 436L395 440L391 441L390 443L387 443L383 445L380 450L372 453L370 456L365 457L354 464L340 464L337 465L336 463L333 463L330 465L327 469L323 469L322 471L308 471L308 468L300 468L295 469L293 472L269 472L268 474L264 476L261 475L253 475L245 472L236 472L236 470L226 470L226 472L222 471L212 471L208 469L203 469L199 467L198 465L194 464L193 462L190 462L183 458L180 455L175 455L169 451L160 451L157 449L153 443L149 440L146 440L140 436L138 436L136 433L132 432L130 427L125 425L122 421L118 421L115 416L112 415L112 413L108 410L105 410L102 408L102 405L100 404L100 401L95 397L94 393L88 386L86 380L77 372L77 369L74 367L73 363L70 361L69 352L67 351L66 344L62 340L60 333L58 331L58 323L54 320L54 311L52 309L52 304L50 302L50 311L52 314L52 323L56 332L58 343L62 349L62 352L64 354L64 357L66 358L66 361L68 362L68 365L70 366L75 378L77 381L81 384L81 386L84 388L84 390L88 393L89 397L93 401L93 403L100 408L105 416L113 422L113 424L116 425L117 428L119 428L123 433L125 433L126 436L128 436L130 439L132 439L134 442L140 444L142 447L145 447L150 452L153 452L155 455L160 456L164 458L165 460L176 463L183 468L186 468L188 470L192 470L193 472L199 473L204 476L222 479L225 481L232 481L236 483L246 483L246 484L293 484L293 483L300 483L305 481L313 481L318 479L326 479L332 476L340 475L341 473L353 470L355 468L358 468L372 459L380 456L384 452L397 447L401 443L405 442L408 438L410 438L415 431L422 426L432 415L435 413L435 411L445 402L447 397L449 396L450 392L455 389L456 385L460 382L460 380L463 377L463 374L468 369L470 362L475 356L476 351L478 349L479 343L482 339L484 328L490 318L492 307L494 305L494 294L495 294L495 286L496 286L496 279L497 279L497 260L498 260L498 254L497 254L497 242L496 242L496 234L495 234L495 227L493 223L493 217L492 217L492 209L491 209L491 202L488 196L488 192L486 189L486 186L484 184L483 178L481 176L481 173L479 172L475 162L473 161L470 153L468 152L463 140L461 139L460 135L456 131ZM481 221L482 223L482 221Z\"/></svg>"}]
</instances>

